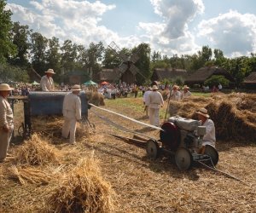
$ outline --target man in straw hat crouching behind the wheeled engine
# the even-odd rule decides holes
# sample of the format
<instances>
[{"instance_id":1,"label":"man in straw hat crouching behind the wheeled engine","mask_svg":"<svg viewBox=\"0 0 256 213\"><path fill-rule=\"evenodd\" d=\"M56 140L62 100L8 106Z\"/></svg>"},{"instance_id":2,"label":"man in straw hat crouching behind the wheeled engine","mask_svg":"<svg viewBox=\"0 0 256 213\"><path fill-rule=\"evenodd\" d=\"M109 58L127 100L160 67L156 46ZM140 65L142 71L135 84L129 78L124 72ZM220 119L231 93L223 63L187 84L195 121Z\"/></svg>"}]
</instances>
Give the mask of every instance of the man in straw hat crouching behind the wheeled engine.
<instances>
[{"instance_id":1,"label":"man in straw hat crouching behind the wheeled engine","mask_svg":"<svg viewBox=\"0 0 256 213\"><path fill-rule=\"evenodd\" d=\"M201 153L205 153L206 145L211 145L215 147L216 136L215 136L215 126L213 121L208 115L207 109L201 108L195 112L198 116L198 119L201 121L201 125L207 127L207 133L203 137Z\"/></svg>"}]
</instances>

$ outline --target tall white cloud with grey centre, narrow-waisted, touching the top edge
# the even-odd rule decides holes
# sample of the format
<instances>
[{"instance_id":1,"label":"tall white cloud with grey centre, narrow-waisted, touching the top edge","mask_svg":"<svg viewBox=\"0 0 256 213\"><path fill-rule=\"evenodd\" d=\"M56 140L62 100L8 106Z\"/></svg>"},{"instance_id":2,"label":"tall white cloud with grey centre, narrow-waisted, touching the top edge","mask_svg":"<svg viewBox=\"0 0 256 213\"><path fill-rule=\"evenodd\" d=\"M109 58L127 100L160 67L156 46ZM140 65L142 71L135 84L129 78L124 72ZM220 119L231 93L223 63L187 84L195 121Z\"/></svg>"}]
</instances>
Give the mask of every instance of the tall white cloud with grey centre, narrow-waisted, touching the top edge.
<instances>
[{"instance_id":1,"label":"tall white cloud with grey centre, narrow-waisted, touching the top edge","mask_svg":"<svg viewBox=\"0 0 256 213\"><path fill-rule=\"evenodd\" d=\"M199 46L188 30L188 24L196 14L204 11L201 0L150 0L154 12L162 17L162 22L143 23L143 30L151 43L151 48L166 55L195 53Z\"/></svg>"}]
</instances>

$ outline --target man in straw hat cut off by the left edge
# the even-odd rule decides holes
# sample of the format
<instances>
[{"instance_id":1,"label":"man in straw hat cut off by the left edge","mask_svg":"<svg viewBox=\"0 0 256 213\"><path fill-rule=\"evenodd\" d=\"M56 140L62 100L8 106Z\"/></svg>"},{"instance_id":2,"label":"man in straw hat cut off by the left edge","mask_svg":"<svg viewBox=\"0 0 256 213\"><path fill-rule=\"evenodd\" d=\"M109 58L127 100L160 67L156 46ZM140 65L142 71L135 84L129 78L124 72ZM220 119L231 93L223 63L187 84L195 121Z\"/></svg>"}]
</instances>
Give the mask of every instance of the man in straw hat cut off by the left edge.
<instances>
[{"instance_id":1,"label":"man in straw hat cut off by the left edge","mask_svg":"<svg viewBox=\"0 0 256 213\"><path fill-rule=\"evenodd\" d=\"M7 83L0 84L0 163L4 162L8 155L9 141L14 130L14 114L7 101L12 89Z\"/></svg>"}]
</instances>

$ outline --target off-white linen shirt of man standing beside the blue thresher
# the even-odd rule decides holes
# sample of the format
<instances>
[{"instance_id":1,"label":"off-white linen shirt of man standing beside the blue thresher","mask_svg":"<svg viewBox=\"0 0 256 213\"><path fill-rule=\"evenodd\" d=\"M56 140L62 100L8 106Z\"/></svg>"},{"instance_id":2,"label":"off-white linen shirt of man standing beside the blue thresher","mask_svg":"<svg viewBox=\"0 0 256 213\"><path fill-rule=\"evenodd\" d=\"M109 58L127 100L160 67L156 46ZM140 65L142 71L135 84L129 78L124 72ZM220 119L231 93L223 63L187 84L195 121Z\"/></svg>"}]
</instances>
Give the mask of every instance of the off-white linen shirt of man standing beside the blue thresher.
<instances>
[{"instance_id":1,"label":"off-white linen shirt of man standing beside the blue thresher","mask_svg":"<svg viewBox=\"0 0 256 213\"><path fill-rule=\"evenodd\" d=\"M79 95L69 93L65 95L62 108L63 116L67 118L75 118L80 120L81 117L81 101Z\"/></svg>"}]
</instances>

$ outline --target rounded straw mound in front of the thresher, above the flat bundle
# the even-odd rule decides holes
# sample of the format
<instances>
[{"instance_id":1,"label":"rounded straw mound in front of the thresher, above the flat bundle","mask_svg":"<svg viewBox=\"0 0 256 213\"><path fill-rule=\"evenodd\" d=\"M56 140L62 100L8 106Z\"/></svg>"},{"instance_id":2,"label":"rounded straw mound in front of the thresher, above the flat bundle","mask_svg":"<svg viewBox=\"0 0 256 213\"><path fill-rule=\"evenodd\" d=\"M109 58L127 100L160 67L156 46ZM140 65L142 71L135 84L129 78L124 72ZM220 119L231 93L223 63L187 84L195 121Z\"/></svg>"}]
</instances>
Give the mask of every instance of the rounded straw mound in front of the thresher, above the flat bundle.
<instances>
[{"instance_id":1,"label":"rounded straw mound in front of the thresher, above the flat bundle","mask_svg":"<svg viewBox=\"0 0 256 213\"><path fill-rule=\"evenodd\" d=\"M17 162L20 164L44 165L59 163L60 152L44 141L38 134L33 134L31 139L17 150Z\"/></svg>"}]
</instances>

